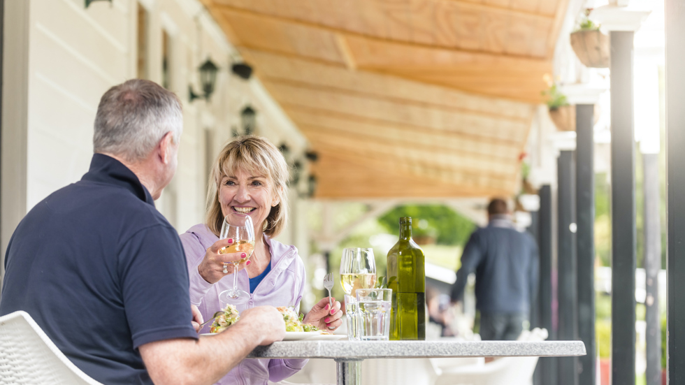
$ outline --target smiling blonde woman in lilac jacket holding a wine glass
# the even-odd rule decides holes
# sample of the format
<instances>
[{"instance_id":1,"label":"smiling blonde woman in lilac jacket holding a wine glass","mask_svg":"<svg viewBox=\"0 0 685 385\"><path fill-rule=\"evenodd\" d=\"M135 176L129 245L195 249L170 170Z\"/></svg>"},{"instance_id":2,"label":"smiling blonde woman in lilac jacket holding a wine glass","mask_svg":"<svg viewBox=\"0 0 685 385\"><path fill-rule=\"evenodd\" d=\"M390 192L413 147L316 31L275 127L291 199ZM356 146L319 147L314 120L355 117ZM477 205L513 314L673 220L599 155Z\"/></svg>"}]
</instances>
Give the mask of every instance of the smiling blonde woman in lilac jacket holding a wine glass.
<instances>
[{"instance_id":1,"label":"smiling blonde woman in lilac jacket holding a wine glass","mask_svg":"<svg viewBox=\"0 0 685 385\"><path fill-rule=\"evenodd\" d=\"M233 274L238 274L238 289L250 293L241 312L258 305L295 307L305 286L305 267L292 245L273 237L287 223L288 166L283 155L265 138L243 136L229 142L212 167L205 224L197 224L181 234L190 277L190 302L209 318L222 303L219 293L233 289ZM228 245L219 240L224 217L230 212L250 215L254 224L254 252L246 263L233 271L233 264L219 249ZM244 269L243 269L244 268ZM322 330L335 330L342 321L340 303L329 305L326 297L304 317L303 322ZM245 360L219 384L266 384L294 375L306 360Z\"/></svg>"}]
</instances>

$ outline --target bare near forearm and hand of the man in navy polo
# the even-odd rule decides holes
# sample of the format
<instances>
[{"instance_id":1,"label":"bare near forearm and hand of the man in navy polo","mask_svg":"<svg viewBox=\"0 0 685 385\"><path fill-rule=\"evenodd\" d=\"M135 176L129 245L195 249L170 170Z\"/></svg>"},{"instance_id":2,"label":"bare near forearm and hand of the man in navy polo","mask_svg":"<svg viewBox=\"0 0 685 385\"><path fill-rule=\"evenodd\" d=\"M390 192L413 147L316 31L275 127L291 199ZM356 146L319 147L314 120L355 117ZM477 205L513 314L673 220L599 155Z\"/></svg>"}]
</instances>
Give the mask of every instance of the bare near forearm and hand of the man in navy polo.
<instances>
[{"instance_id":1,"label":"bare near forearm and hand of the man in navy polo","mask_svg":"<svg viewBox=\"0 0 685 385\"><path fill-rule=\"evenodd\" d=\"M280 341L283 317L275 307L245 310L240 321L199 340L176 338L140 345L140 356L156 385L214 384L259 345Z\"/></svg>"}]
</instances>

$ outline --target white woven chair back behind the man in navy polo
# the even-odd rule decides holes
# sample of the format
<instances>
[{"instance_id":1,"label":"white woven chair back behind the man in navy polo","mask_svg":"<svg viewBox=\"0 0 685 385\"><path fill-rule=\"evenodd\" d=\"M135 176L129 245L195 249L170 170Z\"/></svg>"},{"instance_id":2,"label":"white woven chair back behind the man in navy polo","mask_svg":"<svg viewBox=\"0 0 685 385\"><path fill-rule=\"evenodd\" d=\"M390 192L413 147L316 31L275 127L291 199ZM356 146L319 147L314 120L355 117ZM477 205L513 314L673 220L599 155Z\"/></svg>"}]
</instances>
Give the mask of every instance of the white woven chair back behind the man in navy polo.
<instances>
[{"instance_id":1,"label":"white woven chair back behind the man in navy polo","mask_svg":"<svg viewBox=\"0 0 685 385\"><path fill-rule=\"evenodd\" d=\"M0 317L0 385L101 385L57 349L27 312Z\"/></svg>"}]
</instances>

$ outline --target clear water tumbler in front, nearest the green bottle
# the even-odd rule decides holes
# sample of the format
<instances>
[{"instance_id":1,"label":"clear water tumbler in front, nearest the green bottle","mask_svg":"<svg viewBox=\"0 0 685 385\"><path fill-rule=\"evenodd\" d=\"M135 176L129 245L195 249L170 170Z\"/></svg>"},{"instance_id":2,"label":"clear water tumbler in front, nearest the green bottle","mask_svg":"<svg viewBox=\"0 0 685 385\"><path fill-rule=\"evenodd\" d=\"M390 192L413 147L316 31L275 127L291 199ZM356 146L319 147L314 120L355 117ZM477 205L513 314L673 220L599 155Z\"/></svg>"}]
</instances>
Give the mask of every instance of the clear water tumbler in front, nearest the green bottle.
<instances>
[{"instance_id":1,"label":"clear water tumbler in front, nearest the green bottle","mask_svg":"<svg viewBox=\"0 0 685 385\"><path fill-rule=\"evenodd\" d=\"M391 289L357 289L359 334L362 341L387 341L390 337Z\"/></svg>"}]
</instances>

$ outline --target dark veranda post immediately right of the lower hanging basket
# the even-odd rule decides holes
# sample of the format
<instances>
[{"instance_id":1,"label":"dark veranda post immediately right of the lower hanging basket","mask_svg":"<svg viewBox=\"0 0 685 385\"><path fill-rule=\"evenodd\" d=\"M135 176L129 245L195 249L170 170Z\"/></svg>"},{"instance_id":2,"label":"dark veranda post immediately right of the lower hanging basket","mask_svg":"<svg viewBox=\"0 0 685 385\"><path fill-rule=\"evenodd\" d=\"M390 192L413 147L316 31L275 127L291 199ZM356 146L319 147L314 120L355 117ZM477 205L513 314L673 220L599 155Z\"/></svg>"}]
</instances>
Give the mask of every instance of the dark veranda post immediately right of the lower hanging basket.
<instances>
[{"instance_id":1,"label":"dark veranda post immediately right of the lower hanging basket","mask_svg":"<svg viewBox=\"0 0 685 385\"><path fill-rule=\"evenodd\" d=\"M586 356L578 358L579 383L595 375L595 170L592 104L576 106L576 233L578 262L578 335Z\"/></svg>"}]
</instances>

